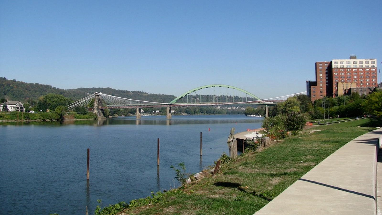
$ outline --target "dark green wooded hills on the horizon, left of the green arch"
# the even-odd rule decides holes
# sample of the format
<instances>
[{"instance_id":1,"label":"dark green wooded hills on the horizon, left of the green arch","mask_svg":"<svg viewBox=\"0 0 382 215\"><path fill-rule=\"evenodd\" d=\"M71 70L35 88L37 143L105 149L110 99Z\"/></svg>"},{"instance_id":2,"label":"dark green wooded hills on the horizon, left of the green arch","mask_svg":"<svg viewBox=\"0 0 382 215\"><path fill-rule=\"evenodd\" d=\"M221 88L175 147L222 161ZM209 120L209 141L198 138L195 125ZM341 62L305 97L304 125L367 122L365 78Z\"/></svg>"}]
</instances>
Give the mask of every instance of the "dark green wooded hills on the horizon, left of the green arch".
<instances>
[{"instance_id":1,"label":"dark green wooded hills on the horizon, left of the green arch","mask_svg":"<svg viewBox=\"0 0 382 215\"><path fill-rule=\"evenodd\" d=\"M76 101L86 97L87 94L93 94L94 92L102 92L104 94L110 94L118 97L150 102L171 102L176 98L174 95L151 94L143 91L124 91L110 87L60 89L47 84L26 83L16 81L15 79L8 80L0 77L0 99L5 98L8 100L19 100L21 102L26 102L29 99L37 101L39 97L43 95L54 93Z\"/></svg>"}]
</instances>

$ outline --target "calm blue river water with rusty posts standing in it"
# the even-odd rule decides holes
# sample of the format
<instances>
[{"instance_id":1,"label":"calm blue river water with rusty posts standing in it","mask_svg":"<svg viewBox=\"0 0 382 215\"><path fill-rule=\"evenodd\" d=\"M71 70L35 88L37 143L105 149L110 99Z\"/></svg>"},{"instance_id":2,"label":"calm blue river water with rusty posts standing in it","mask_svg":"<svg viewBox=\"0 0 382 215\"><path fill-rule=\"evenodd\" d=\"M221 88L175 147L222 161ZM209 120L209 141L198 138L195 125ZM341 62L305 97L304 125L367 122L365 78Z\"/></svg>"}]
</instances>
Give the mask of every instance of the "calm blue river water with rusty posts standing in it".
<instances>
[{"instance_id":1,"label":"calm blue river water with rusty posts standing in it","mask_svg":"<svg viewBox=\"0 0 382 215\"><path fill-rule=\"evenodd\" d=\"M170 168L196 173L228 154L230 129L261 127L244 115L119 117L0 123L1 214L93 214L102 205L179 186ZM210 131L209 131L210 129ZM203 137L200 157L200 133ZM160 166L157 167L157 138ZM86 180L87 148L90 179Z\"/></svg>"}]
</instances>

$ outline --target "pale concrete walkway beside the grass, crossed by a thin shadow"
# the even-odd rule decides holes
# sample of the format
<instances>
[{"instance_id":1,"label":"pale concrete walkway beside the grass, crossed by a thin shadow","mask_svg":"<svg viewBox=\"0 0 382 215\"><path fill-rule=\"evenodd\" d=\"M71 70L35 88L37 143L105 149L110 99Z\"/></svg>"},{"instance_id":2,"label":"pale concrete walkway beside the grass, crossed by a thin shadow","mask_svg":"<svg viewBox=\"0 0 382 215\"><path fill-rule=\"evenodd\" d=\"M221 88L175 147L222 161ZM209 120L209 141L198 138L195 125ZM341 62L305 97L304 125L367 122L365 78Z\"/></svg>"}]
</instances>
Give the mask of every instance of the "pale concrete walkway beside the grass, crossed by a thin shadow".
<instances>
[{"instance_id":1,"label":"pale concrete walkway beside the grass, crossed by a thin shadow","mask_svg":"<svg viewBox=\"0 0 382 215\"><path fill-rule=\"evenodd\" d=\"M377 154L381 144L382 129L353 139L255 214L376 215Z\"/></svg>"}]
</instances>

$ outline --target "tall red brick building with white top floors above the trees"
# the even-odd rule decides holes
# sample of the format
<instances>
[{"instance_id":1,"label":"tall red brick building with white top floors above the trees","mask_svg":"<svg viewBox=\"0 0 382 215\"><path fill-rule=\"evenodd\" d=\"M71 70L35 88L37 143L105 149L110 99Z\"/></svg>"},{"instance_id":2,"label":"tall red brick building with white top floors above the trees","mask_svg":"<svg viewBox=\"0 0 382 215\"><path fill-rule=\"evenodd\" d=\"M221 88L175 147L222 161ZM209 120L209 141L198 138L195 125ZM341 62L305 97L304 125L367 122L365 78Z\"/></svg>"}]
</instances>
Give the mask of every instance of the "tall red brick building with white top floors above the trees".
<instances>
[{"instance_id":1,"label":"tall red brick building with white top floors above the trees","mask_svg":"<svg viewBox=\"0 0 382 215\"><path fill-rule=\"evenodd\" d=\"M377 87L377 59L333 59L316 62L316 81L306 82L313 102L325 96L347 94L352 87Z\"/></svg>"}]
</instances>

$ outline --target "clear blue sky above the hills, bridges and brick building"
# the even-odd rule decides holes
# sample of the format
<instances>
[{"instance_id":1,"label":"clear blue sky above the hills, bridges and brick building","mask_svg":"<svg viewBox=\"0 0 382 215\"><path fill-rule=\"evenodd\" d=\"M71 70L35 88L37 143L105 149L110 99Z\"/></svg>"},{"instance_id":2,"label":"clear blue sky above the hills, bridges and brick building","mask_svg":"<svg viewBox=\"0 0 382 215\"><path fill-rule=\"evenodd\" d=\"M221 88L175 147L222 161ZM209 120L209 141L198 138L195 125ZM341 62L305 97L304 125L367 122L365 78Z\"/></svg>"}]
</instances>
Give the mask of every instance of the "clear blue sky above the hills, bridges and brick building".
<instances>
[{"instance_id":1,"label":"clear blue sky above the hills, bridges and brick building","mask_svg":"<svg viewBox=\"0 0 382 215\"><path fill-rule=\"evenodd\" d=\"M0 76L180 95L305 91L314 63L377 58L382 2L0 0ZM379 81L379 74L378 74Z\"/></svg>"}]
</instances>

